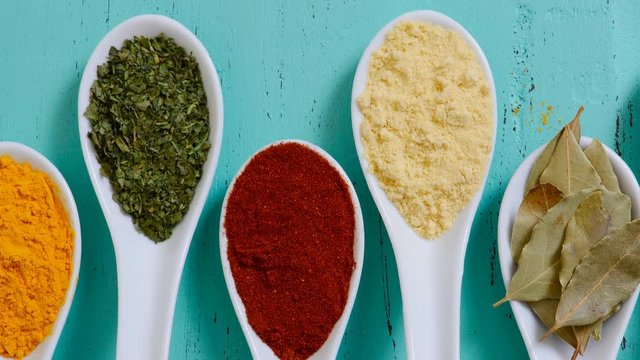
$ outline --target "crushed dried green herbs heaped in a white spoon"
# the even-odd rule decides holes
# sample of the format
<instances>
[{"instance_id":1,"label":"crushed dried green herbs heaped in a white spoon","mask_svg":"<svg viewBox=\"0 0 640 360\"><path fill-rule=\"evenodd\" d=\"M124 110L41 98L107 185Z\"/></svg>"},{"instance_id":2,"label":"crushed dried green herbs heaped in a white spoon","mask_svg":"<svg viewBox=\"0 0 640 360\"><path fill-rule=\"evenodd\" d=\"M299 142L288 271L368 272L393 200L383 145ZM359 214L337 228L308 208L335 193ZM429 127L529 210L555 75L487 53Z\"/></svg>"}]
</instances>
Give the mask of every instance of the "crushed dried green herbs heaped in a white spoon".
<instances>
[{"instance_id":1,"label":"crushed dried green herbs heaped in a white spoon","mask_svg":"<svg viewBox=\"0 0 640 360\"><path fill-rule=\"evenodd\" d=\"M189 210L210 147L195 58L162 34L112 47L85 116L113 199L147 237L168 239Z\"/></svg>"}]
</instances>

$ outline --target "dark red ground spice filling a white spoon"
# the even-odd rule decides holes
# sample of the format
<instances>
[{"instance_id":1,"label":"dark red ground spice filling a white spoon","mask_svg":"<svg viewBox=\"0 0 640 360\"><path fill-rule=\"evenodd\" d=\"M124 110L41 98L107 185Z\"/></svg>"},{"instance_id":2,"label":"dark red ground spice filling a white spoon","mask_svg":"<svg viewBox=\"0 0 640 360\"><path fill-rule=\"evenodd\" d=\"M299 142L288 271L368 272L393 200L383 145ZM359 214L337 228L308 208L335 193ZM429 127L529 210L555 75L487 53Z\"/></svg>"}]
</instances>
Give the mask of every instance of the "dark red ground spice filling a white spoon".
<instances>
[{"instance_id":1,"label":"dark red ground spice filling a white spoon","mask_svg":"<svg viewBox=\"0 0 640 360\"><path fill-rule=\"evenodd\" d=\"M282 359L314 354L342 315L355 266L355 212L343 178L305 145L272 145L236 179L224 228L255 332Z\"/></svg>"}]
</instances>

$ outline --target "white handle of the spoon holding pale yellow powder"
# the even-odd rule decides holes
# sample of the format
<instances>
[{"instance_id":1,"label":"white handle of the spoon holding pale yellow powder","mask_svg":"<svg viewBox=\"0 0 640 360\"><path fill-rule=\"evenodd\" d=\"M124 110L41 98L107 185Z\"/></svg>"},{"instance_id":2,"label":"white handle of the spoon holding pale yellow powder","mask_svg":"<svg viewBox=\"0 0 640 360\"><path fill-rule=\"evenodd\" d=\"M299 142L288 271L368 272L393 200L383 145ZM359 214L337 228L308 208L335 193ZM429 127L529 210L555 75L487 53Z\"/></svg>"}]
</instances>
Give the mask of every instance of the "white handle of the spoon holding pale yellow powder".
<instances>
[{"instance_id":1,"label":"white handle of the spoon holding pale yellow powder","mask_svg":"<svg viewBox=\"0 0 640 360\"><path fill-rule=\"evenodd\" d=\"M460 358L463 239L393 241L402 292L408 359ZM392 235L393 236L393 235Z\"/></svg>"}]
</instances>

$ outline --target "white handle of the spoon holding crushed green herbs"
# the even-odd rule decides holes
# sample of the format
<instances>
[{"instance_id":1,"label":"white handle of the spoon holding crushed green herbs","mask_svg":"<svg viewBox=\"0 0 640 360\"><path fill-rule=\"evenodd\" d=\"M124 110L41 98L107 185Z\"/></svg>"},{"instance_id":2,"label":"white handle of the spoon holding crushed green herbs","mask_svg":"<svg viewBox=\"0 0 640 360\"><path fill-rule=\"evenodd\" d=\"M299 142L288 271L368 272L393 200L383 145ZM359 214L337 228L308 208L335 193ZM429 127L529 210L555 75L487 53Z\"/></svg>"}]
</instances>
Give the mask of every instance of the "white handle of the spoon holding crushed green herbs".
<instances>
[{"instance_id":1,"label":"white handle of the spoon holding crushed green herbs","mask_svg":"<svg viewBox=\"0 0 640 360\"><path fill-rule=\"evenodd\" d=\"M135 236L120 238L114 244L121 245L115 247L118 270L116 358L167 359L184 265L179 242L154 244L147 238Z\"/></svg>"}]
</instances>

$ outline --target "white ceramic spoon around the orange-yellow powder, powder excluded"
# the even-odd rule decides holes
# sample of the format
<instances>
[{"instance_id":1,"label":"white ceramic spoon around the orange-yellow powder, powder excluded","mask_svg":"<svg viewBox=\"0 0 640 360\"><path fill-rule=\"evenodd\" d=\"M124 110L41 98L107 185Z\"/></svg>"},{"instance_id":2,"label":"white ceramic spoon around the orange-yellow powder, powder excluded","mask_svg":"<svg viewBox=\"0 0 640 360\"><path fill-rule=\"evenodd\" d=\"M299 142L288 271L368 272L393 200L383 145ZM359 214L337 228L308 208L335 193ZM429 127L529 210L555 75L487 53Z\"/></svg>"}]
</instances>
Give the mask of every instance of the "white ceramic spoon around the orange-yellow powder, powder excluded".
<instances>
[{"instance_id":1,"label":"white ceramic spoon around the orange-yellow powder, powder excluded","mask_svg":"<svg viewBox=\"0 0 640 360\"><path fill-rule=\"evenodd\" d=\"M49 336L47 336L44 341L42 341L27 357L25 357L25 360L51 359L56 350L56 345L60 339L62 329L64 328L64 323L67 321L67 315L69 315L69 309L73 302L73 295L75 294L76 285L78 284L78 274L80 273L82 236L80 233L78 209L76 208L76 202L73 198L73 194L71 193L71 189L69 189L69 185L67 185L64 177L62 177L60 171L58 171L58 169L42 154L22 144L14 142L0 142L0 156L2 155L9 155L14 161L19 163L29 163L32 168L43 171L49 175L51 180L58 186L60 199L69 213L71 227L75 233L75 238L73 240L73 255L71 259L73 269L64 305L60 308L60 312L58 313L56 322L53 325L51 334L49 334ZM0 356L0 359L5 358Z\"/></svg>"}]
</instances>

